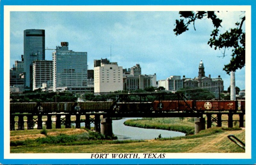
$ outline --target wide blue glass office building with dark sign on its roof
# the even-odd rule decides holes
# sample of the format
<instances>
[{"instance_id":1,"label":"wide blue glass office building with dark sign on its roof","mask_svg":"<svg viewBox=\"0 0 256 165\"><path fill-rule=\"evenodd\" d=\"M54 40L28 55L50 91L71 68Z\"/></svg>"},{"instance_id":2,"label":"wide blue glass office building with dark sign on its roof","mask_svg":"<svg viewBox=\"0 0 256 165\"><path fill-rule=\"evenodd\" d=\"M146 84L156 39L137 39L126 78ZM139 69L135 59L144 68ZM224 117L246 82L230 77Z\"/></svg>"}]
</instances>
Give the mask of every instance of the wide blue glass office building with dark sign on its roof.
<instances>
[{"instance_id":1,"label":"wide blue glass office building with dark sign on its roof","mask_svg":"<svg viewBox=\"0 0 256 165\"><path fill-rule=\"evenodd\" d=\"M87 87L87 52L68 50L68 42L61 42L52 53L53 91L85 92Z\"/></svg>"}]
</instances>

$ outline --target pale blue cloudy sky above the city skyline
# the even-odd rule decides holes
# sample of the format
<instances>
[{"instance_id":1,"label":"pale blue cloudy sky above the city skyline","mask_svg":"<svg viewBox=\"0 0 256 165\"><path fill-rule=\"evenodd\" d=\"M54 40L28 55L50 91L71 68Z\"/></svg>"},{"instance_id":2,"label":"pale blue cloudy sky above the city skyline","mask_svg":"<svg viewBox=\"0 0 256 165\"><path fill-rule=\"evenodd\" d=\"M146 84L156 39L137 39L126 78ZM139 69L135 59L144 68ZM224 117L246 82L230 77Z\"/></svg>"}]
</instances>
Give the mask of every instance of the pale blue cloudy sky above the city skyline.
<instances>
[{"instance_id":1,"label":"pale blue cloudy sky above the city skyline","mask_svg":"<svg viewBox=\"0 0 256 165\"><path fill-rule=\"evenodd\" d=\"M235 27L243 15L240 11L220 11L221 31ZM108 58L118 66L131 68L140 64L143 75L156 73L157 80L171 75L198 76L199 62L204 62L205 75L230 85L230 76L223 71L230 61L230 50L214 50L207 45L214 29L208 19L197 20L189 31L175 36L178 11L11 11L10 68L23 54L23 31L45 30L45 48L55 49L68 42L69 50L87 52L88 69L93 60ZM45 51L45 60L52 60L52 51ZM111 52L111 53L110 53ZM111 55L110 55L111 54ZM236 86L245 89L245 68L236 71Z\"/></svg>"}]
</instances>

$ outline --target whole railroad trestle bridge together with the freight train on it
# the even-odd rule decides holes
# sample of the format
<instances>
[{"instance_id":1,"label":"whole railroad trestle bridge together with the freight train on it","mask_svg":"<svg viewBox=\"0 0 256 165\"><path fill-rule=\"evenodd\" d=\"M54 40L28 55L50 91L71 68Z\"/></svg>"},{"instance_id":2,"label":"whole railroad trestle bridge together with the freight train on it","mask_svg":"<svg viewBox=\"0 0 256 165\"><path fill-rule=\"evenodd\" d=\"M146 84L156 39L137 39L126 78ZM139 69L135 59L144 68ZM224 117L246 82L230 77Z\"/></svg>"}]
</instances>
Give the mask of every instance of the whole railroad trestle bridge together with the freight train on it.
<instances>
[{"instance_id":1,"label":"whole railroad trestle bridge together with the freight train on it","mask_svg":"<svg viewBox=\"0 0 256 165\"><path fill-rule=\"evenodd\" d=\"M25 122L27 129L43 129L43 123L46 129L52 129L52 123L57 129L61 125L71 128L72 123L80 128L84 122L85 128L91 129L93 123L95 131L112 136L112 118L191 117L196 118L195 132L198 132L205 129L204 115L207 128L212 123L221 127L223 121L228 122L228 127L233 127L234 121L239 122L239 127L244 127L245 101L192 101L183 94L145 93L119 94L115 101L10 103L10 130L24 130ZM222 115L228 115L228 119L223 120ZM233 115L239 115L239 120L233 120ZM71 116L75 118L71 119ZM81 116L85 119L82 120ZM15 123L18 123L18 128L15 128Z\"/></svg>"}]
</instances>

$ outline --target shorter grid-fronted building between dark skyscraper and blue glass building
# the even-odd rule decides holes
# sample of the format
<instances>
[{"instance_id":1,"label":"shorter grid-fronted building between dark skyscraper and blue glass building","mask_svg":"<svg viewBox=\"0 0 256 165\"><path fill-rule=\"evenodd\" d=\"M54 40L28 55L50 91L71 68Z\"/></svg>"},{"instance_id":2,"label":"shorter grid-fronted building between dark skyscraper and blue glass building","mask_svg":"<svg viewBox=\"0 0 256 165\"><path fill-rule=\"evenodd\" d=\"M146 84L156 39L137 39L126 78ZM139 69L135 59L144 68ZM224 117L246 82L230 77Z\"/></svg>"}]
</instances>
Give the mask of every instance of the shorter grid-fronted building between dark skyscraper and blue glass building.
<instances>
[{"instance_id":1,"label":"shorter grid-fronted building between dark skyscraper and blue glass building","mask_svg":"<svg viewBox=\"0 0 256 165\"><path fill-rule=\"evenodd\" d=\"M33 61L33 90L52 87L52 61Z\"/></svg>"}]
</instances>

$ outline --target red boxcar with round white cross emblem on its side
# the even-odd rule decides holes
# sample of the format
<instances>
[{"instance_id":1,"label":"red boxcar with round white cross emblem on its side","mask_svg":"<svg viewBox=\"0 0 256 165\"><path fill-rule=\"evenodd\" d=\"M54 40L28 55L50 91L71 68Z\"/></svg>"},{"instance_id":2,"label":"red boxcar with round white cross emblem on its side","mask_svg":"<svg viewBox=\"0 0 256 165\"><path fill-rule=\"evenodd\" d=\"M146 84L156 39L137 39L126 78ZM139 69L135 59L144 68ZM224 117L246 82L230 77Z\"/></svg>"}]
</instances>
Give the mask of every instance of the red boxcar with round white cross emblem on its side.
<instances>
[{"instance_id":1,"label":"red boxcar with round white cross emblem on its side","mask_svg":"<svg viewBox=\"0 0 256 165\"><path fill-rule=\"evenodd\" d=\"M226 110L237 110L237 101L196 101L196 110L203 111L226 111Z\"/></svg>"}]
</instances>

